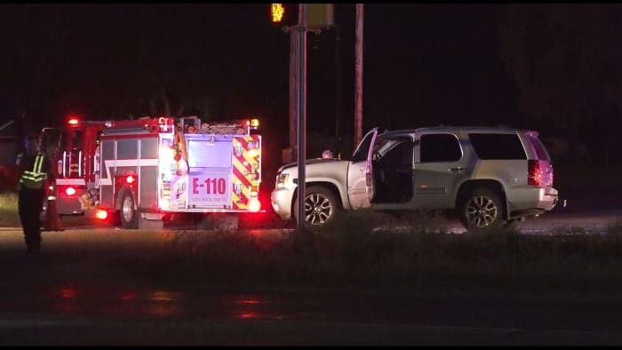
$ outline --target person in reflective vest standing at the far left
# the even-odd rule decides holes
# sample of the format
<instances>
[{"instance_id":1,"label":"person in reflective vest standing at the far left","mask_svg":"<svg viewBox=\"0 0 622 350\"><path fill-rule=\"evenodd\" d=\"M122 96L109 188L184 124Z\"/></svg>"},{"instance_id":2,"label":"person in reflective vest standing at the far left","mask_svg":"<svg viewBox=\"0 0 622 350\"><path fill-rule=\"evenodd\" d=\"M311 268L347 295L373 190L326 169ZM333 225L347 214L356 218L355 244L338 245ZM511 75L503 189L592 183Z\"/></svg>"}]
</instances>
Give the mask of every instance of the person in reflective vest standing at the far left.
<instances>
[{"instance_id":1,"label":"person in reflective vest standing at the far left","mask_svg":"<svg viewBox=\"0 0 622 350\"><path fill-rule=\"evenodd\" d=\"M25 153L18 155L17 165L21 169L18 184L18 210L21 227L28 250L26 254L41 252L41 211L44 207L46 179L55 179L55 173L47 156L39 151L39 139L35 134L24 141Z\"/></svg>"}]
</instances>

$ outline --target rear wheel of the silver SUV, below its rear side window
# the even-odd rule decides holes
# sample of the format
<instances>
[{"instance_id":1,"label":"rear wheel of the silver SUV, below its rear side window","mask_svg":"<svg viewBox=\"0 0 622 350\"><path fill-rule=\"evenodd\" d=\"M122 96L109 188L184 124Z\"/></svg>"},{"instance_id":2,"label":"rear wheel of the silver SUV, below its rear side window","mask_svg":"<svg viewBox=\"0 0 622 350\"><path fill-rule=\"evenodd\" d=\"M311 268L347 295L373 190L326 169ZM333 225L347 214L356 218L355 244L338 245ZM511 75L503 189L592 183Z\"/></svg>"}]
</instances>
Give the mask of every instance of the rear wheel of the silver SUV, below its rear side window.
<instances>
[{"instance_id":1,"label":"rear wheel of the silver SUV, below its rear side window","mask_svg":"<svg viewBox=\"0 0 622 350\"><path fill-rule=\"evenodd\" d=\"M501 199L488 188L477 188L467 195L459 215L462 225L469 231L487 232L505 223Z\"/></svg>"}]
</instances>

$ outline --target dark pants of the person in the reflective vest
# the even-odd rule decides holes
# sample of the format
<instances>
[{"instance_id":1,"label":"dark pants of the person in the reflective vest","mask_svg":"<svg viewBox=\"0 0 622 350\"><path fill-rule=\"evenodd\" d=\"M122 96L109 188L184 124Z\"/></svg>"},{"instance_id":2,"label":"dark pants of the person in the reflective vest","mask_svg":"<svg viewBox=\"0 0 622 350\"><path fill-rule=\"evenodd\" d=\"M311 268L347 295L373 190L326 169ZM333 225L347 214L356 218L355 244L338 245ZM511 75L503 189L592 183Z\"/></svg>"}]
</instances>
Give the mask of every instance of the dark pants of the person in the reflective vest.
<instances>
[{"instance_id":1,"label":"dark pants of the person in the reflective vest","mask_svg":"<svg viewBox=\"0 0 622 350\"><path fill-rule=\"evenodd\" d=\"M41 211L44 210L45 189L21 188L18 194L21 227L28 251L41 247Z\"/></svg>"}]
</instances>

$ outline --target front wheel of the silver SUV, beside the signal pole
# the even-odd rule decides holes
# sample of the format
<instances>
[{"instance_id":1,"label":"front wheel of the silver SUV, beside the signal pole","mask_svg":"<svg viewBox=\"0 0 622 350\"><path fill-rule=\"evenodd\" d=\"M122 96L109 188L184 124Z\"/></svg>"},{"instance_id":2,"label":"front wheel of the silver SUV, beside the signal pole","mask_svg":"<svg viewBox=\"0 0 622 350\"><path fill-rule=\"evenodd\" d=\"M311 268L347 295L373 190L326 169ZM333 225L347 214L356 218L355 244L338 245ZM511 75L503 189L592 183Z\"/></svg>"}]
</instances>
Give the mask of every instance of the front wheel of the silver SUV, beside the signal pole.
<instances>
[{"instance_id":1,"label":"front wheel of the silver SUV, beside the signal pole","mask_svg":"<svg viewBox=\"0 0 622 350\"><path fill-rule=\"evenodd\" d=\"M298 199L294 203L294 218L298 222ZM306 227L318 230L330 227L335 217L339 216L339 203L331 190L321 186L307 188L305 198Z\"/></svg>"}]
</instances>

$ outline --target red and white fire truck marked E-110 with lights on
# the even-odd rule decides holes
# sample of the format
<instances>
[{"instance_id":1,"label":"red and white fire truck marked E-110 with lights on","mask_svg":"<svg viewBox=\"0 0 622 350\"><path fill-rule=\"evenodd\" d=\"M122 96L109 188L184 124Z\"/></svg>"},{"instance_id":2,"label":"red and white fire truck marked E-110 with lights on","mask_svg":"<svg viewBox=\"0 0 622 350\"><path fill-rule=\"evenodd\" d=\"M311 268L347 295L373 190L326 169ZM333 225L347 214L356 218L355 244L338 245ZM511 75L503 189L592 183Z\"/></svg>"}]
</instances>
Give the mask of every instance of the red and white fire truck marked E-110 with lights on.
<instances>
[{"instance_id":1,"label":"red and white fire truck marked E-110 with lights on","mask_svg":"<svg viewBox=\"0 0 622 350\"><path fill-rule=\"evenodd\" d=\"M56 179L61 215L153 228L162 227L171 214L195 213L235 229L238 214L261 210L258 119L87 122L74 117L63 129L44 131L46 139L58 139L62 152Z\"/></svg>"}]
</instances>

